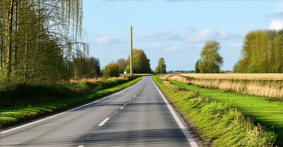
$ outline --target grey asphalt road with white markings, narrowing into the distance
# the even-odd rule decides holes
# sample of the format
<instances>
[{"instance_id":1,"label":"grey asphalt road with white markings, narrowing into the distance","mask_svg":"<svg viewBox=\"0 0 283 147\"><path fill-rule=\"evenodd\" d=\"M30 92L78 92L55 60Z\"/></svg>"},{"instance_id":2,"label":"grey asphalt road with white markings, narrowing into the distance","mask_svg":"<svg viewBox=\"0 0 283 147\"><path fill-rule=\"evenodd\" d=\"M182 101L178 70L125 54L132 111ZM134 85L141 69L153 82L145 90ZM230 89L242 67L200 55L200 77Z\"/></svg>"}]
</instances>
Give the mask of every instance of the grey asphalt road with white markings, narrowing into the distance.
<instances>
[{"instance_id":1,"label":"grey asphalt road with white markings, narrowing into the distance","mask_svg":"<svg viewBox=\"0 0 283 147\"><path fill-rule=\"evenodd\" d=\"M102 100L2 131L3 147L198 145L151 76Z\"/></svg>"}]
</instances>

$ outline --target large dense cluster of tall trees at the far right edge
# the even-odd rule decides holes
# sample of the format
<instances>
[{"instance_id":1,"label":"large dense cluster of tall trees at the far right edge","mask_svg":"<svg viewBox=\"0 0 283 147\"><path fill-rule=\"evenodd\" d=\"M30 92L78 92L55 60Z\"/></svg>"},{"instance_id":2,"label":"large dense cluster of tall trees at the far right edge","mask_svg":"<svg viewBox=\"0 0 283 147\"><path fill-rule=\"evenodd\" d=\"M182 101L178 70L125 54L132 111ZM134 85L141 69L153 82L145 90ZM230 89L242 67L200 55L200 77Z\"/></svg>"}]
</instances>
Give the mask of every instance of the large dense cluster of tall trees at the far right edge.
<instances>
[{"instance_id":1,"label":"large dense cluster of tall trees at the far right edge","mask_svg":"<svg viewBox=\"0 0 283 147\"><path fill-rule=\"evenodd\" d=\"M238 73L283 73L283 30L249 31L243 41L239 61L233 66Z\"/></svg>"}]
</instances>

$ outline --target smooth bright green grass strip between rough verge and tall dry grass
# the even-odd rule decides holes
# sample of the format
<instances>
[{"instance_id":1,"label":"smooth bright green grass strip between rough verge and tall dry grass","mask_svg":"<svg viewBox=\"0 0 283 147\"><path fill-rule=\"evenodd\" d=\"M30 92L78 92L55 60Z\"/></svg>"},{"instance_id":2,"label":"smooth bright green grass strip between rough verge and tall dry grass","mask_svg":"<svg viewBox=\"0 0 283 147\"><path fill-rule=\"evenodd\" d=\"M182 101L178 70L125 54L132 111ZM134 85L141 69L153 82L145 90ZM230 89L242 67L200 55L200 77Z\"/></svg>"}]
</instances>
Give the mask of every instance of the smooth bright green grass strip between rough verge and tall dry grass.
<instances>
[{"instance_id":1,"label":"smooth bright green grass strip between rough verge and tall dry grass","mask_svg":"<svg viewBox=\"0 0 283 147\"><path fill-rule=\"evenodd\" d=\"M283 103L278 101L267 101L260 96L249 96L235 92L226 92L219 89L201 88L177 81L171 81L175 85L182 86L187 90L200 91L215 101L235 103L238 109L243 110L250 116L254 124L260 123L266 129L270 129L278 135L277 143L283 145Z\"/></svg>"}]
</instances>

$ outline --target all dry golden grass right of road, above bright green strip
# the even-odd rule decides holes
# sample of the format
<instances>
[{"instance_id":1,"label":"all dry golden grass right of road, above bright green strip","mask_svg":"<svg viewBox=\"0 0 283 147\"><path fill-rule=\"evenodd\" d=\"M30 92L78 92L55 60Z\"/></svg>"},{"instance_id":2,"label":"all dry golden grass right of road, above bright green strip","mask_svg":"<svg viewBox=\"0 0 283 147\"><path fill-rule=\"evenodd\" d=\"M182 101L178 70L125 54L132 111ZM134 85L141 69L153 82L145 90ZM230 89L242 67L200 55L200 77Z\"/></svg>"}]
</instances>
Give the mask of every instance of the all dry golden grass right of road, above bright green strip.
<instances>
[{"instance_id":1,"label":"all dry golden grass right of road, above bright green strip","mask_svg":"<svg viewBox=\"0 0 283 147\"><path fill-rule=\"evenodd\" d=\"M198 85L204 88L218 88L221 90L234 91L241 94L250 94L255 96L266 96L273 100L283 101L282 81L278 81L281 74L182 74L166 75L164 78L176 80L183 83ZM192 75L192 76L191 76ZM227 75L227 76L226 76ZM233 77L233 75L236 75ZM243 75L243 77L241 77ZM269 76L268 76L269 75ZM277 75L277 76L276 76ZM194 78L186 78L186 77ZM213 79L215 78L215 79ZM274 80L277 78L277 81ZM246 80L244 80L246 79ZM270 80L273 79L273 80Z\"/></svg>"}]
</instances>

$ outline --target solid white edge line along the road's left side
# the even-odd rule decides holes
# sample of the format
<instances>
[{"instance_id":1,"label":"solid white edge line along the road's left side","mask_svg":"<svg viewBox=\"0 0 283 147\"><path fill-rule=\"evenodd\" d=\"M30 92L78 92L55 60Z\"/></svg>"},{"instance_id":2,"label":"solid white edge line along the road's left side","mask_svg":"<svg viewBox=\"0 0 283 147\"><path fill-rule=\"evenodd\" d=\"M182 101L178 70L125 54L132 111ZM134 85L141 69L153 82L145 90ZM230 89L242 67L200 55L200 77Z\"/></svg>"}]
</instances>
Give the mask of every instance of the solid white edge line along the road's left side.
<instances>
[{"instance_id":1,"label":"solid white edge line along the road's left side","mask_svg":"<svg viewBox=\"0 0 283 147\"><path fill-rule=\"evenodd\" d=\"M143 79L143 78L142 78L142 79ZM142 81L142 79L141 79L140 81ZM139 81L138 83L140 83L140 81ZM136 84L138 84L138 83L136 83ZM130 87L128 87L128 88L134 87L136 84L134 84L134 85L132 85L132 86L130 86ZM126 89L124 89L124 90L127 90L128 88L126 88ZM124 91L124 90L122 90L122 91ZM117 93L115 93L115 94L118 94L118 93L120 93L120 92L122 92L122 91L119 91L119 92L117 92ZM115 95L115 94L112 94L112 95L110 95L110 96L113 96L113 95ZM5 130L5 131L2 131L2 132L0 132L0 134L6 133L6 132L9 132L9 131L12 131L12 130L15 130L15 129L18 129L18 128L21 128L21 127L29 126L29 125L31 125L31 124L34 124L34 123L37 123L37 122L41 122L42 120L46 120L46 119L48 119L48 118L52 118L52 117L55 117L55 116L58 116L58 115L61 115L61 114L64 114L64 113L67 113L67 112L70 112L70 111L79 109L79 108L84 107L84 106L86 106L86 105L89 105L89 104L95 103L95 102L97 102L97 101L100 101L100 100L109 98L110 96L107 96L107 97L105 97L105 98L102 98L102 99L93 101L93 102L91 102L91 103L82 105L82 106L80 106L80 107L76 107L76 108L74 108L74 109L71 109L71 110L68 110L68 111L65 111L65 112L61 112L61 113L55 114L55 115L53 115L53 116L49 116L49 117L43 118L43 119L41 119L41 120L37 120L37 121L35 121L35 122L31 122L31 123L28 123L28 124L24 124L24 125L22 125L22 126L18 126L18 127L12 128L12 129L8 129L8 130Z\"/></svg>"}]
</instances>

